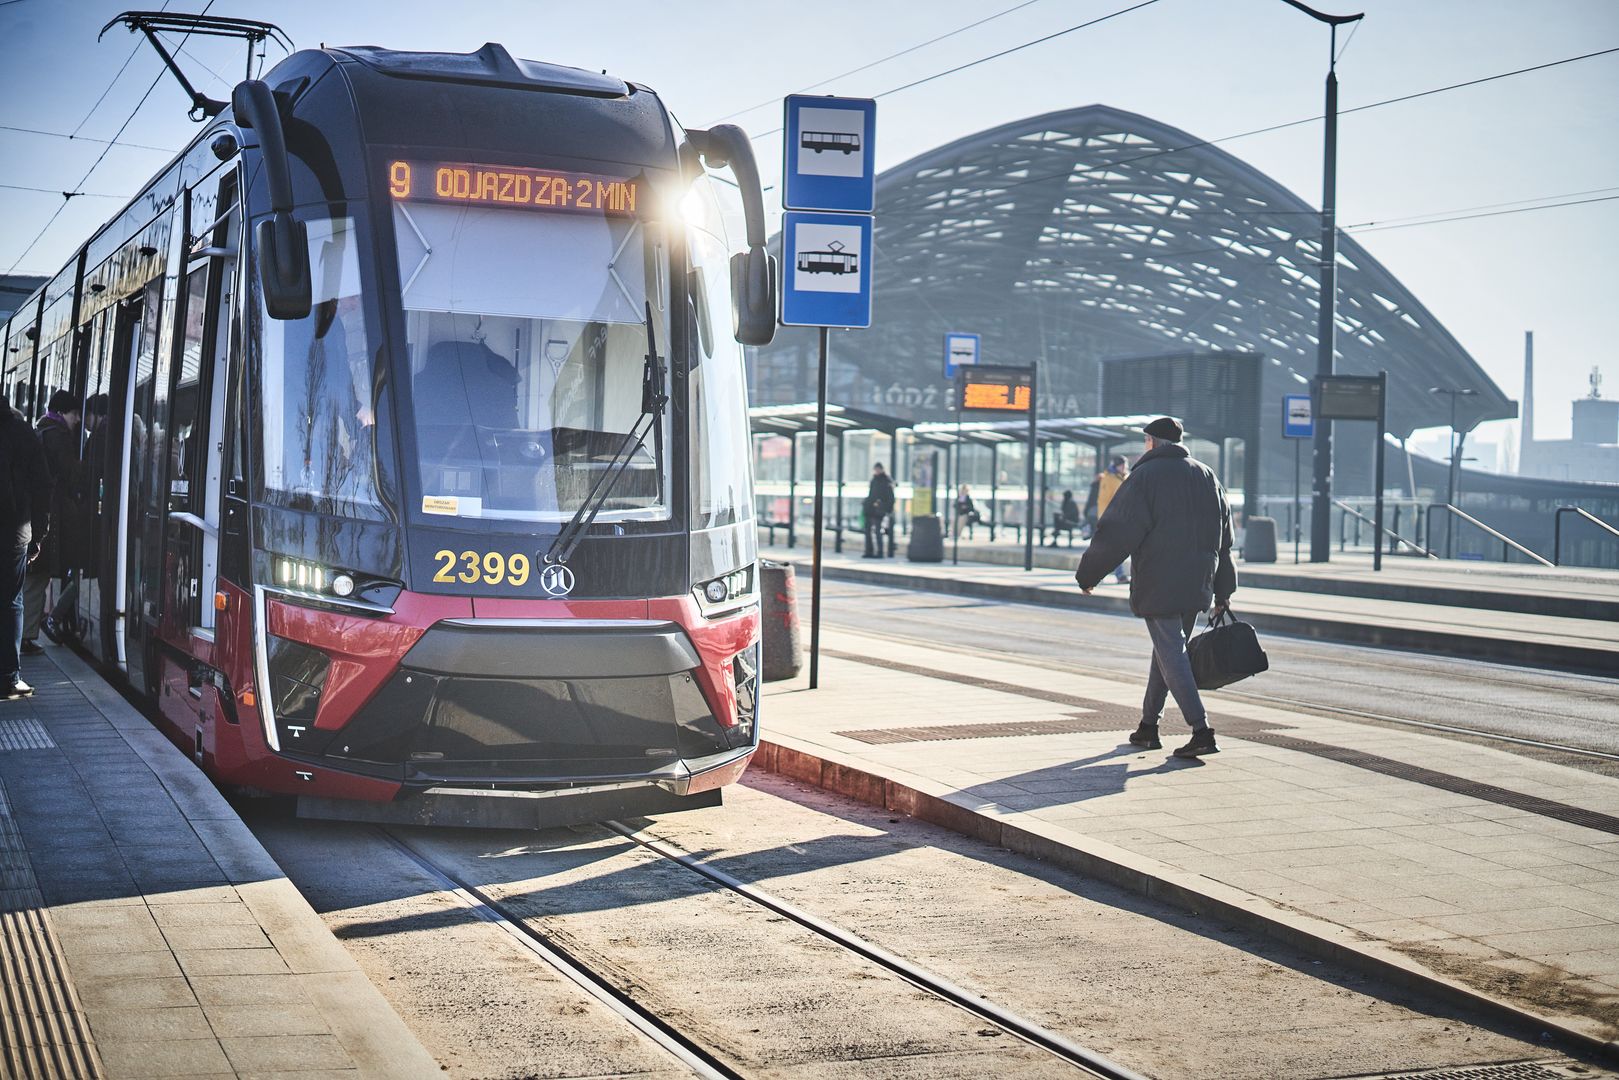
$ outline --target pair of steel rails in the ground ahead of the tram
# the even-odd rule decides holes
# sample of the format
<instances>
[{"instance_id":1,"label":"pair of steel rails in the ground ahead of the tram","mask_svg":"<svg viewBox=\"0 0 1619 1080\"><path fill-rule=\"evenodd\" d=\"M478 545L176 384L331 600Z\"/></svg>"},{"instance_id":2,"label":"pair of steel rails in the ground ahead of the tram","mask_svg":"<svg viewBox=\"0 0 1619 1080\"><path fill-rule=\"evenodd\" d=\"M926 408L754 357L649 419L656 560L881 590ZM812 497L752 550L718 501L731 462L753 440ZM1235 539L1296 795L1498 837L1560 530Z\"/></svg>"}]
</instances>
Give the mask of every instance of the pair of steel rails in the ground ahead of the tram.
<instances>
[{"instance_id":1,"label":"pair of steel rails in the ground ahead of the tram","mask_svg":"<svg viewBox=\"0 0 1619 1080\"><path fill-rule=\"evenodd\" d=\"M910 960L905 960L903 957L860 938L858 934L805 912L780 897L771 895L758 886L748 884L716 866L709 866L695 855L680 850L667 840L646 836L643 831L620 821L604 821L601 823L601 827L630 840L652 855L657 855L667 863L680 866L686 873L701 878L709 886L717 886L725 892L738 895L751 905L771 912L772 915L831 941L840 949L858 955L860 959L874 963L892 975L897 975L911 986L933 994L934 997L939 997L941 1001L945 1001L986 1023L992 1023L1002 1031L1039 1048L1054 1057L1059 1057L1060 1061L1081 1070L1083 1075L1099 1077L1103 1080L1148 1080L1145 1075L1120 1065L1046 1027L1041 1027L1026 1017L1010 1012L981 994L975 994L973 991L915 965ZM680 1031L675 1025L661 1018L652 1009L636 1001L633 993L617 986L610 978L593 970L589 963L573 955L568 949L559 946L550 936L533 926L528 918L513 912L499 897L491 895L486 889L481 889L453 870L440 865L431 855L411 844L410 839L397 834L392 827L377 826L376 829L395 850L421 868L429 878L437 881L444 892L457 897L481 920L494 923L504 929L539 962L546 963L562 978L576 984L589 997L610 1009L644 1038L651 1040L680 1061L680 1064L691 1069L695 1075L725 1080L746 1075L727 1064L714 1049L701 1044L698 1040Z\"/></svg>"}]
</instances>

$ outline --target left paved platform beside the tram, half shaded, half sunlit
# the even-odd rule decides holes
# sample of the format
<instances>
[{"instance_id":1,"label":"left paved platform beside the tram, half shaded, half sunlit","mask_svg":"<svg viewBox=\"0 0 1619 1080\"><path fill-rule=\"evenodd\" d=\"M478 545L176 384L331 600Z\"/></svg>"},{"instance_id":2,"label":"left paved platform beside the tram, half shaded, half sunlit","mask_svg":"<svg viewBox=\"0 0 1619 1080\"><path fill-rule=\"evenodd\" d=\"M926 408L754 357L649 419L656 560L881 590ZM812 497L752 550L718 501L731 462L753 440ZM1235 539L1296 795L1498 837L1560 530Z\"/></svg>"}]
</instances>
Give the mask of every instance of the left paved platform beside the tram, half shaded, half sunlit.
<instances>
[{"instance_id":1,"label":"left paved platform beside the tram, half shaded, half sunlit","mask_svg":"<svg viewBox=\"0 0 1619 1080\"><path fill-rule=\"evenodd\" d=\"M437 1077L202 772L78 656L0 701L0 1075Z\"/></svg>"}]
</instances>

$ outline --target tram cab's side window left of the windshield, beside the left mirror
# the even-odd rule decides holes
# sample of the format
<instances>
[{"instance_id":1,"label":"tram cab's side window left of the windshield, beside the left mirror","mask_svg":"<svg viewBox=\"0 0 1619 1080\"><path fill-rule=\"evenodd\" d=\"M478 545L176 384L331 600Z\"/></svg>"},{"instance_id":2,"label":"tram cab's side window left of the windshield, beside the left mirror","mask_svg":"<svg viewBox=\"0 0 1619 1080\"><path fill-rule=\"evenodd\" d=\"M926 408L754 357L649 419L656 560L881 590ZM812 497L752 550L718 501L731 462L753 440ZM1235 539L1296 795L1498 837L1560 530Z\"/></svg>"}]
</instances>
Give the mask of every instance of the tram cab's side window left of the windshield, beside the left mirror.
<instances>
[{"instance_id":1,"label":"tram cab's side window left of the windshield, beside the left mirror","mask_svg":"<svg viewBox=\"0 0 1619 1080\"><path fill-rule=\"evenodd\" d=\"M270 319L262 295L253 311L261 494L295 510L380 520L359 235L348 217L308 227L309 316Z\"/></svg>"}]
</instances>

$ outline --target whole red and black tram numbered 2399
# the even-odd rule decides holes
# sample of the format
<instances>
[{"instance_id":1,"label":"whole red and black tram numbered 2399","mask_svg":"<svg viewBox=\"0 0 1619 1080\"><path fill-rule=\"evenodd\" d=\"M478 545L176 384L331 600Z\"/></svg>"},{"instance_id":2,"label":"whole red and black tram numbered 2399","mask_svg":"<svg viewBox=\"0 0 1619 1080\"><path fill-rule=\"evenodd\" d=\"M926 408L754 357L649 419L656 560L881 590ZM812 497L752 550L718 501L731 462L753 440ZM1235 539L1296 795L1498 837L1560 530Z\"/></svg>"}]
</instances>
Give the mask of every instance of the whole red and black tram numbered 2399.
<instances>
[{"instance_id":1,"label":"whole red and black tram numbered 2399","mask_svg":"<svg viewBox=\"0 0 1619 1080\"><path fill-rule=\"evenodd\" d=\"M759 737L746 136L494 44L303 50L214 112L5 327L29 419L107 415L81 648L306 814L717 803Z\"/></svg>"}]
</instances>

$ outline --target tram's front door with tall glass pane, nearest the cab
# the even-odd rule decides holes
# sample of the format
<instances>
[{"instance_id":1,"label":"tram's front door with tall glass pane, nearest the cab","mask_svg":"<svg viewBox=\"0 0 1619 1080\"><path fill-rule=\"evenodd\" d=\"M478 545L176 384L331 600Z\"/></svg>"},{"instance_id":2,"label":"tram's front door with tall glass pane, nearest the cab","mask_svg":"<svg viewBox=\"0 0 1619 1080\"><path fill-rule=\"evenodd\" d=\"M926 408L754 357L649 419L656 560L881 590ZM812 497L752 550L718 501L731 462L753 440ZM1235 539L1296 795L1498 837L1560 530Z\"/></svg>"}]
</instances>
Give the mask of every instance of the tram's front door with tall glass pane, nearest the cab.
<instances>
[{"instance_id":1,"label":"tram's front door with tall glass pane, nearest the cab","mask_svg":"<svg viewBox=\"0 0 1619 1080\"><path fill-rule=\"evenodd\" d=\"M191 194L193 241L181 285L185 313L170 393L170 470L164 541L167 640L212 641L219 576L227 364L240 236L235 173Z\"/></svg>"}]
</instances>

